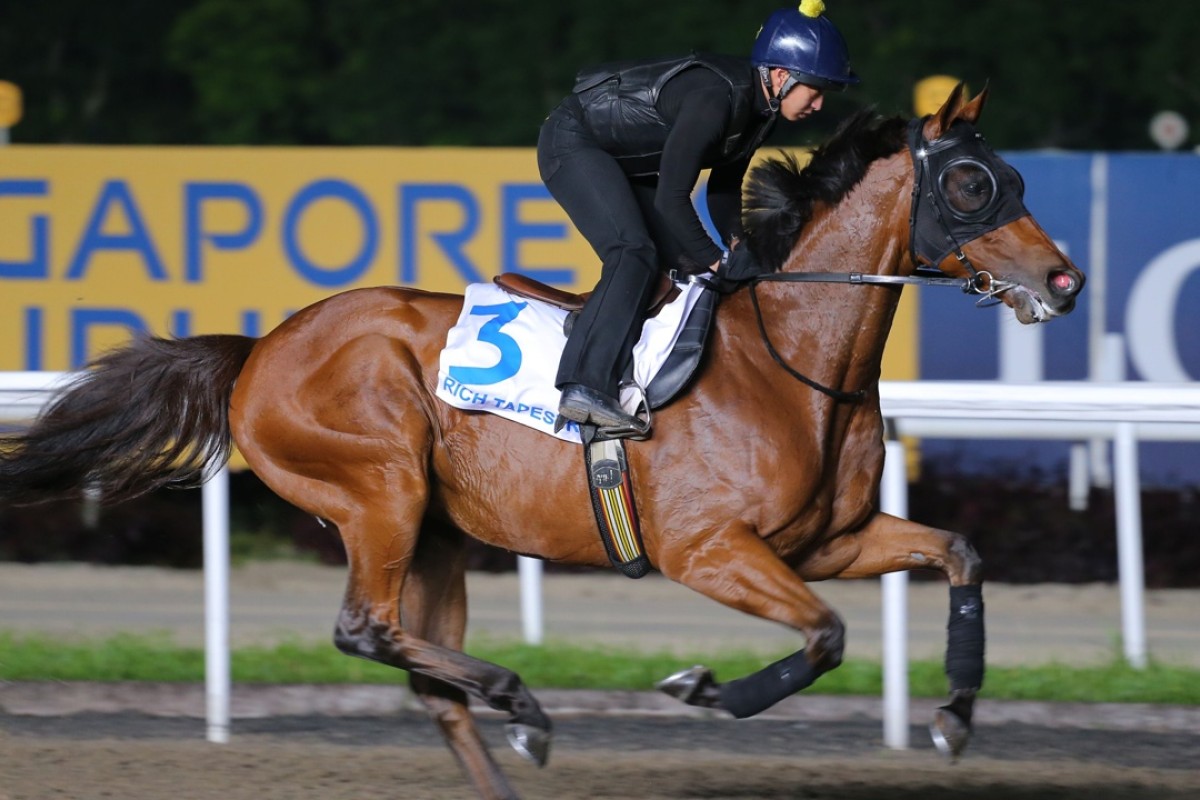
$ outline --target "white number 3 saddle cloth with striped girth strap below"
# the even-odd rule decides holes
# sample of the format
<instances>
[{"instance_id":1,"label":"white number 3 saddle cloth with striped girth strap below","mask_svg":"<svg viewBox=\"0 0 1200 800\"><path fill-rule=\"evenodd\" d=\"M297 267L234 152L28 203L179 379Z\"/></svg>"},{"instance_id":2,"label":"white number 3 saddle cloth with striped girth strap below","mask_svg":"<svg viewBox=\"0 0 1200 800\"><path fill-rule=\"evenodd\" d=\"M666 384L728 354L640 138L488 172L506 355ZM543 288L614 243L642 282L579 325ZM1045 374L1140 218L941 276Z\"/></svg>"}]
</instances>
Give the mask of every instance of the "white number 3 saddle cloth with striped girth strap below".
<instances>
[{"instance_id":1,"label":"white number 3 saddle cloth with striped girth strap below","mask_svg":"<svg viewBox=\"0 0 1200 800\"><path fill-rule=\"evenodd\" d=\"M622 404L630 414L660 408L689 381L708 338L716 291L702 279L677 283L678 296L646 320L634 348ZM553 290L535 293L546 297ZM577 301L574 295L557 293ZM570 303L565 303L570 305ZM497 414L566 441L582 443L592 506L608 559L624 575L650 570L629 480L622 439L593 435L568 422L558 432L560 392L554 387L566 344L568 308L510 294L498 285L467 287L462 313L446 335L438 368L437 396L455 408Z\"/></svg>"}]
</instances>

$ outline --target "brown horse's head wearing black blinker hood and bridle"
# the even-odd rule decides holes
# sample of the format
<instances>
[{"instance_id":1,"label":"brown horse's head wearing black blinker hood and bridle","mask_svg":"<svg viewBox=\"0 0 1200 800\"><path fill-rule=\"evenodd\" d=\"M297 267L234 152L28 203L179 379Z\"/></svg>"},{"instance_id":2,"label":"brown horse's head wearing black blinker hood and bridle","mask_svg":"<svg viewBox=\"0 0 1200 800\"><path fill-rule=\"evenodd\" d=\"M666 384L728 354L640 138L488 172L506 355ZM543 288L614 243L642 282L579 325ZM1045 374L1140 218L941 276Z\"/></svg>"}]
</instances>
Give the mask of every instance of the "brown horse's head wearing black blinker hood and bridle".
<instances>
[{"instance_id":1,"label":"brown horse's head wearing black blinker hood and bridle","mask_svg":"<svg viewBox=\"0 0 1200 800\"><path fill-rule=\"evenodd\" d=\"M1025 207L1020 174L976 130L986 98L984 88L967 101L960 83L936 114L910 124L910 255L967 278L980 303L1003 302L1021 323L1045 321L1074 308L1084 273Z\"/></svg>"}]
</instances>

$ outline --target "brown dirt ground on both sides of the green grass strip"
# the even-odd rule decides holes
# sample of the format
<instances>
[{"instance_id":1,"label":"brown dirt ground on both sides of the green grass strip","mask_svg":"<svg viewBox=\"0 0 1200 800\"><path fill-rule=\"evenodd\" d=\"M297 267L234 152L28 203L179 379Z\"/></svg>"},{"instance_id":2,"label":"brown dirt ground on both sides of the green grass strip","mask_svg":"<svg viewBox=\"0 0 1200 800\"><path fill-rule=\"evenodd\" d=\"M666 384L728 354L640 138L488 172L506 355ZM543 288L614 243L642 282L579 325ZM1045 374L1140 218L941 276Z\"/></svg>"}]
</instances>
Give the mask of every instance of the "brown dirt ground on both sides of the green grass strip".
<instances>
[{"instance_id":1,"label":"brown dirt ground on both sides of the green grass strip","mask_svg":"<svg viewBox=\"0 0 1200 800\"><path fill-rule=\"evenodd\" d=\"M185 642L200 628L194 575L0 565L0 578L2 628L67 637L168 630ZM589 640L686 649L714 640L778 648L794 638L726 613L666 582L582 578L547 582L551 634L569 631ZM234 638L328 640L342 579L340 571L295 566L235 572ZM475 630L493 636L518 631L514 581L476 576L473 582ZM856 634L851 644L859 648L856 655L874 655L877 587L830 584L822 591ZM995 587L988 595L989 658L1031 663L1111 657L1117 618L1114 595L1109 587ZM1195 663L1200 652L1195 602L1196 593L1151 595L1152 652ZM914 656L940 655L944 646L944 603L943 587L913 588ZM0 686L6 688L13 687ZM30 688L38 691L30 693ZM211 745L204 741L198 687L172 688L170 697L162 697L160 687L152 703L146 702L148 687L126 688L133 702L126 698L113 704L120 711L76 714L70 711L104 708L89 704L96 700L94 687L47 684L0 691L0 800L474 796L434 727L418 712L353 716L378 710L359 705L359 711L325 716L276 708L235 720L233 741ZM76 691L80 697L70 698ZM239 691L235 687L235 716L239 710L250 714L256 705L254 697L239 696ZM54 702L48 703L46 694ZM379 699L371 694L367 703ZM1200 724L1193 724L1190 712L1182 724L1172 717L1166 726L1162 724L1166 717L1157 712L1124 718L1130 716L1127 709L1088 706L1086 720L1073 722L1074 727L1050 727L1063 722L1067 709L1051 709L1048 717L1012 714L1010 706L1003 715L998 708L985 714L982 705L976 741L961 763L950 765L932 751L923 728L913 728L912 750L888 751L881 746L878 718L845 708L814 716L817 699L787 700L799 703L808 718L742 722L664 714L553 712L554 747L545 770L524 764L508 747L499 720L487 718L482 724L493 752L527 799L1200 798ZM48 711L48 705L54 710ZM182 716L151 716L145 712L151 706ZM929 709L914 708L912 718L923 724L929 716Z\"/></svg>"}]
</instances>

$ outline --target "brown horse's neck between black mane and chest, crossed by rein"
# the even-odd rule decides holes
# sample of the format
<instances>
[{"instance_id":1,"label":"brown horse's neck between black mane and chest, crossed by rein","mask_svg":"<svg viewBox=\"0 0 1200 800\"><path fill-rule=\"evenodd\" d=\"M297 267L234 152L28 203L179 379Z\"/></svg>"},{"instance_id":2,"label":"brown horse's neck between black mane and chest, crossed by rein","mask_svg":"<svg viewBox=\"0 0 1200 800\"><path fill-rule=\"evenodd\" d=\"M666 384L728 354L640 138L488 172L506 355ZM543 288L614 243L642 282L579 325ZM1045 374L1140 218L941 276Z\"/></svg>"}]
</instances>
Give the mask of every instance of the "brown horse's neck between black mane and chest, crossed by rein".
<instances>
[{"instance_id":1,"label":"brown horse's neck between black mane and chest, crossed by rein","mask_svg":"<svg viewBox=\"0 0 1200 800\"><path fill-rule=\"evenodd\" d=\"M907 154L881 160L838 205L814 213L781 271L911 272L911 190ZM796 369L845 391L878 379L883 345L900 300L898 288L763 283L756 291L772 343ZM750 305L748 297L739 299ZM757 326L752 308L740 315ZM757 337L757 331L752 335Z\"/></svg>"}]
</instances>

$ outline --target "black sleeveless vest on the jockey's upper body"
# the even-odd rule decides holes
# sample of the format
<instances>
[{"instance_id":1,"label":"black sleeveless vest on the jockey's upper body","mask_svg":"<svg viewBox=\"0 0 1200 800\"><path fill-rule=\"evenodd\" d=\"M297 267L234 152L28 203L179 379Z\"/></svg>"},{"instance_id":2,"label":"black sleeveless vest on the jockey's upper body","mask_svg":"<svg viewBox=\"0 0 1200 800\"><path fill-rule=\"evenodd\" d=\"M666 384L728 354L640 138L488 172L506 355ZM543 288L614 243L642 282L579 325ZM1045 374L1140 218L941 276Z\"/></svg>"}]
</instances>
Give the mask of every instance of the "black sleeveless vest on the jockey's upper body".
<instances>
[{"instance_id":1,"label":"black sleeveless vest on the jockey's upper body","mask_svg":"<svg viewBox=\"0 0 1200 800\"><path fill-rule=\"evenodd\" d=\"M572 92L583 121L596 143L622 162L629 174L658 172L670 126L658 110L659 92L667 80L691 67L712 70L730 84L732 114L721 143L718 167L749 158L773 127L774 116L755 110L760 89L757 72L748 59L692 53L683 58L601 64L582 70Z\"/></svg>"}]
</instances>

